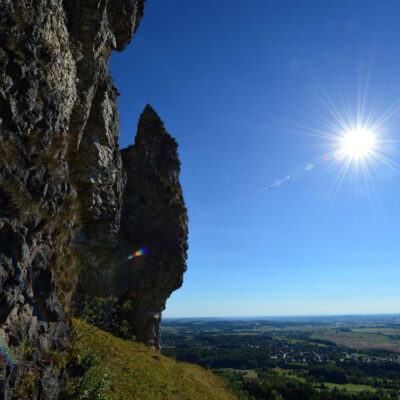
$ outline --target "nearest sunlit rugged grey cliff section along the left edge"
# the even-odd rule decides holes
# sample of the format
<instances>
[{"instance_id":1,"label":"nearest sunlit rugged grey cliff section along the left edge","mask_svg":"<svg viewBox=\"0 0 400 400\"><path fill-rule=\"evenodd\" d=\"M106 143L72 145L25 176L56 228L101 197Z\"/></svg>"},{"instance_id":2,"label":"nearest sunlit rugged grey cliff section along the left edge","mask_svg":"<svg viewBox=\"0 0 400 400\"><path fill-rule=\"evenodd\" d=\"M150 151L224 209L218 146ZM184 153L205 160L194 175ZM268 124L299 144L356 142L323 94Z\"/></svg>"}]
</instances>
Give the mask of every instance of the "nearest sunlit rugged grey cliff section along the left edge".
<instances>
[{"instance_id":1,"label":"nearest sunlit rugged grey cliff section along the left edge","mask_svg":"<svg viewBox=\"0 0 400 400\"><path fill-rule=\"evenodd\" d=\"M75 197L67 134L76 68L58 2L0 7L0 398L57 398L65 373L46 361L68 332L51 265L56 242L71 243ZM71 208L72 209L72 208ZM63 233L61 234L61 231ZM61 235L63 237L61 237Z\"/></svg>"}]
</instances>

